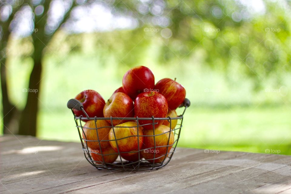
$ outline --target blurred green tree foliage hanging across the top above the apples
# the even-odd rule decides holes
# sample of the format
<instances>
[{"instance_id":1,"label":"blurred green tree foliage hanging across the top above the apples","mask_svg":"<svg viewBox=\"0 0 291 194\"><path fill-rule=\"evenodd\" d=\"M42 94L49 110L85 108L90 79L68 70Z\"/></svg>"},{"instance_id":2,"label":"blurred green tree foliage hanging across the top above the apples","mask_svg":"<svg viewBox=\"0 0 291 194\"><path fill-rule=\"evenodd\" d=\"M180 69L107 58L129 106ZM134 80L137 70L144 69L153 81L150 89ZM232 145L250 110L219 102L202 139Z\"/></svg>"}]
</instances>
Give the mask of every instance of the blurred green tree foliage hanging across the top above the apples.
<instances>
[{"instance_id":1,"label":"blurred green tree foliage hanging across the top above the apples","mask_svg":"<svg viewBox=\"0 0 291 194\"><path fill-rule=\"evenodd\" d=\"M132 67L144 60L144 53L154 43L159 47L159 65L191 59L191 65L209 66L227 76L246 76L252 79L253 89L259 90L266 78L275 75L274 82L279 84L291 69L290 5L288 1L264 1L256 5L261 10L254 11L250 4L227 0L115 1L107 6L113 14L136 18L139 25L135 29L82 35L59 32L46 53L95 50L104 65L113 56L120 66ZM149 10L159 5L162 12L141 12L141 5ZM81 41L86 37L93 44ZM84 49L87 44L92 44L91 50Z\"/></svg>"}]
</instances>

